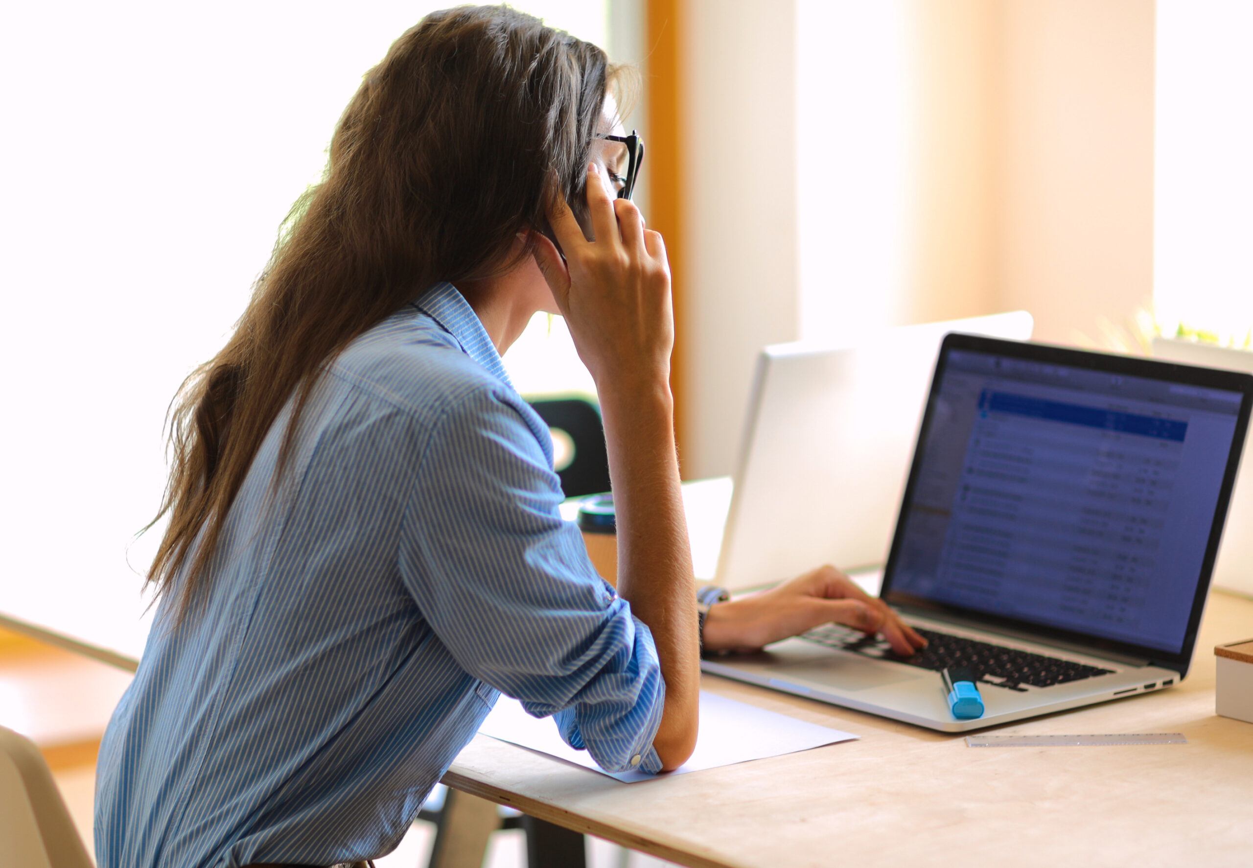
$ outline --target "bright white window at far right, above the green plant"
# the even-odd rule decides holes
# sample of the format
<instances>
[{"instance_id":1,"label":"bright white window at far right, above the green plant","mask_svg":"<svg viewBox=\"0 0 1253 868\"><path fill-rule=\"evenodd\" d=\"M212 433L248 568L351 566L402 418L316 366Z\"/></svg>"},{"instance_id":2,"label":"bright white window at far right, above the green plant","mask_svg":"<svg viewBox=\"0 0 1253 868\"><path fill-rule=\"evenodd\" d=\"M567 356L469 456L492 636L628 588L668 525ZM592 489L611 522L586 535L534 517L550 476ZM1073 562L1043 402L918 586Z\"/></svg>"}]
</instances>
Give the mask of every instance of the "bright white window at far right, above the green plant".
<instances>
[{"instance_id":1,"label":"bright white window at far right, above the green plant","mask_svg":"<svg viewBox=\"0 0 1253 868\"><path fill-rule=\"evenodd\" d=\"M1158 0L1154 287L1182 323L1243 346L1253 328L1253 4Z\"/></svg>"}]
</instances>

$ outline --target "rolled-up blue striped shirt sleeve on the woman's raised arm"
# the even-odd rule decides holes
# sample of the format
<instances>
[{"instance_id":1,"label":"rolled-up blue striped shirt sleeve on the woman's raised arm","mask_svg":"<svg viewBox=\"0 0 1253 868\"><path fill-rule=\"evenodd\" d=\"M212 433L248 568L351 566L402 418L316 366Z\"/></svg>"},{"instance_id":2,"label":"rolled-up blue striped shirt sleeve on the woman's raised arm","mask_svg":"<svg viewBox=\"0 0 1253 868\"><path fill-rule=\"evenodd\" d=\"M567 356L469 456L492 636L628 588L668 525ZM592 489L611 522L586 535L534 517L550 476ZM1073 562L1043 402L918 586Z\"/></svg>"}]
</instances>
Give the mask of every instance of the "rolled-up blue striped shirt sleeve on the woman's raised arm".
<instances>
[{"instance_id":1,"label":"rolled-up blue striped shirt sleeve on the woman's raised arm","mask_svg":"<svg viewBox=\"0 0 1253 868\"><path fill-rule=\"evenodd\" d=\"M507 387L451 405L406 506L402 579L470 675L556 715L601 768L658 772L665 684L653 636L561 520L540 437L546 427Z\"/></svg>"}]
</instances>

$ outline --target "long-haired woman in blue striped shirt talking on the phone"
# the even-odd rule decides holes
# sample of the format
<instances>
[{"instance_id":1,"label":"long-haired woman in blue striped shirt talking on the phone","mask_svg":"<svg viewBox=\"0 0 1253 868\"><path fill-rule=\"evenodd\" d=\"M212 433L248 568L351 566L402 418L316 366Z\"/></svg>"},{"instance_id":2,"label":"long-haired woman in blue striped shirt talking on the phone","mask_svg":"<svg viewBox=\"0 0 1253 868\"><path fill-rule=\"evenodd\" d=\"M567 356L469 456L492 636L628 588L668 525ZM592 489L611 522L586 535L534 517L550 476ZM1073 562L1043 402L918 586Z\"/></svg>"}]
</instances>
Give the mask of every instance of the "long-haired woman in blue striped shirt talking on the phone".
<instances>
[{"instance_id":1,"label":"long-haired woman in blue striped shirt talking on the phone","mask_svg":"<svg viewBox=\"0 0 1253 868\"><path fill-rule=\"evenodd\" d=\"M177 407L159 611L101 745L101 868L387 853L497 691L606 769L690 754L669 272L614 198L611 78L505 8L432 14L366 76ZM536 311L566 318L596 381L618 592L500 364ZM715 606L704 640L828 620L920 644L829 567Z\"/></svg>"}]
</instances>

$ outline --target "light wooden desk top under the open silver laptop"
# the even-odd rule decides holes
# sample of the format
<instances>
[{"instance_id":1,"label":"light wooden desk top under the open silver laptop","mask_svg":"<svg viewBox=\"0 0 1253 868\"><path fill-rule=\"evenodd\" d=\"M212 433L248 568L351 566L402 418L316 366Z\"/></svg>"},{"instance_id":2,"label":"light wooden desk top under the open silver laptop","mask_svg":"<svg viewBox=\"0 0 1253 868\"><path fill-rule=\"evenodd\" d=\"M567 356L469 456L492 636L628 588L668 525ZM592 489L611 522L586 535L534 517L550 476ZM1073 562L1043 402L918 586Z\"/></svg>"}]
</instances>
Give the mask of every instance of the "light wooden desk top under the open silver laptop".
<instances>
[{"instance_id":1,"label":"light wooden desk top under the open silver laptop","mask_svg":"<svg viewBox=\"0 0 1253 868\"><path fill-rule=\"evenodd\" d=\"M960 736L707 675L858 741L619 784L484 735L445 783L685 865L1253 864L1253 724L1214 714L1213 646L1253 600L1210 595L1177 688L994 731L1183 733L1185 745L967 748Z\"/></svg>"}]
</instances>

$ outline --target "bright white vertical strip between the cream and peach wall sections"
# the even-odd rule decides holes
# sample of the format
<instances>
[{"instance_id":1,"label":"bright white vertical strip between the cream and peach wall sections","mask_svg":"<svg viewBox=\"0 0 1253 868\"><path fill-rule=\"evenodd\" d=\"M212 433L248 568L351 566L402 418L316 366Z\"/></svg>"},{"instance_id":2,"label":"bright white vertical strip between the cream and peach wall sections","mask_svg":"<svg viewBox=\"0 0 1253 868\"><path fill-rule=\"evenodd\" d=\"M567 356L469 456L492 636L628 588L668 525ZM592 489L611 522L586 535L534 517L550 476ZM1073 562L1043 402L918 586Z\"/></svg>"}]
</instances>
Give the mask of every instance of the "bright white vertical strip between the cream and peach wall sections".
<instances>
[{"instance_id":1,"label":"bright white vertical strip between the cream and peach wall sections","mask_svg":"<svg viewBox=\"0 0 1253 868\"><path fill-rule=\"evenodd\" d=\"M797 3L801 337L895 324L907 279L915 159L910 4Z\"/></svg>"}]
</instances>

